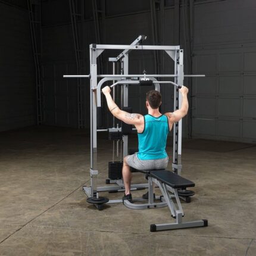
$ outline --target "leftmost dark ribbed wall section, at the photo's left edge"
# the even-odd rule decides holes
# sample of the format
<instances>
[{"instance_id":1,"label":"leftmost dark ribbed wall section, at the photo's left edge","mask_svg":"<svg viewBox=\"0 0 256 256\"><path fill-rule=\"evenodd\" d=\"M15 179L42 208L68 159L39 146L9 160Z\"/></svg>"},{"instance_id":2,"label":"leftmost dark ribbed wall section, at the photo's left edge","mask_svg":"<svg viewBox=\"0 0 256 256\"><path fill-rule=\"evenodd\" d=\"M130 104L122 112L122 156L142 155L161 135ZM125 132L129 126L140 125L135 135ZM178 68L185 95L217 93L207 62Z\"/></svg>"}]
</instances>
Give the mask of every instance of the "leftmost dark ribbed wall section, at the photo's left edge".
<instances>
[{"instance_id":1,"label":"leftmost dark ribbed wall section, at the photo's left edge","mask_svg":"<svg viewBox=\"0 0 256 256\"><path fill-rule=\"evenodd\" d=\"M0 35L3 131L35 124L35 73L28 12L0 2Z\"/></svg>"}]
</instances>

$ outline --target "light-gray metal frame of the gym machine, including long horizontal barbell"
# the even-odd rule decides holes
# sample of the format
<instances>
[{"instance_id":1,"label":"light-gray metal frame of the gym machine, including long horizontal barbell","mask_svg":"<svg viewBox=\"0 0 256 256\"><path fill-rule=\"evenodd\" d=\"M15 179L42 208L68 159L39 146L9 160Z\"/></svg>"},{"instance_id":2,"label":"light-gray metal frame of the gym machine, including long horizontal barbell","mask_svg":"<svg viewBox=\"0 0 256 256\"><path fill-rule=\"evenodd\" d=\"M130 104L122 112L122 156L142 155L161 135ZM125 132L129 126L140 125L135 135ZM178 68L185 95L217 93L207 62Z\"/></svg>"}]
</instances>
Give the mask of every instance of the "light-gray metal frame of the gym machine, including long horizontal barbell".
<instances>
[{"instance_id":1,"label":"light-gray metal frame of the gym machine, including long horizontal barbell","mask_svg":"<svg viewBox=\"0 0 256 256\"><path fill-rule=\"evenodd\" d=\"M96 186L96 176L98 175L97 169L97 132L102 132L105 129L97 130L96 123L96 107L101 106L101 85L104 82L109 80L118 81L122 83L123 89L123 107L128 107L128 85L130 83L138 83L138 81L128 80L139 79L145 75L141 74L129 74L129 52L132 50L162 50L167 53L168 56L174 61L174 74L155 74L155 75L146 75L146 79L151 79L155 82L156 89L160 89L159 83L155 77L174 77L174 84L182 86L184 80L183 73L183 49L180 49L180 46L159 46L159 45L139 45L141 41L145 39L145 36L139 36L131 45L97 45L91 44L89 47L90 51L90 75L65 75L64 77L88 77L90 78L90 186L83 186L83 191L89 197L95 195L99 191L123 191L124 185L122 180L112 180L111 183L116 183L116 186L105 186L97 187ZM109 61L113 62L113 74L98 74L97 72L97 58L104 52L106 49L123 49L120 55L116 58L109 58ZM115 74L114 63L115 61L121 62L122 73ZM202 77L204 75L186 75L192 77ZM103 78L98 83L98 78ZM121 81L125 80L125 81ZM161 82L163 83L163 82ZM167 83L173 83L168 82ZM158 87L159 86L159 87ZM179 94L179 89L174 87L174 110L177 110L181 107L181 95ZM182 154L182 120L174 124L173 127L173 171L175 173L181 174L181 154ZM123 155L128 154L128 136L123 136ZM132 185L132 189L137 188L147 188L148 184L137 184ZM168 188L171 192L173 190ZM120 200L118 200L120 201ZM112 201L110 201L111 203ZM117 202L114 200L113 202Z\"/></svg>"}]
</instances>

